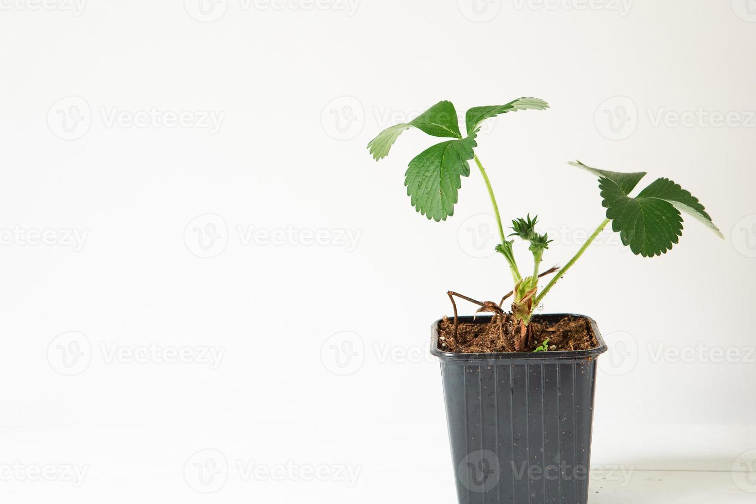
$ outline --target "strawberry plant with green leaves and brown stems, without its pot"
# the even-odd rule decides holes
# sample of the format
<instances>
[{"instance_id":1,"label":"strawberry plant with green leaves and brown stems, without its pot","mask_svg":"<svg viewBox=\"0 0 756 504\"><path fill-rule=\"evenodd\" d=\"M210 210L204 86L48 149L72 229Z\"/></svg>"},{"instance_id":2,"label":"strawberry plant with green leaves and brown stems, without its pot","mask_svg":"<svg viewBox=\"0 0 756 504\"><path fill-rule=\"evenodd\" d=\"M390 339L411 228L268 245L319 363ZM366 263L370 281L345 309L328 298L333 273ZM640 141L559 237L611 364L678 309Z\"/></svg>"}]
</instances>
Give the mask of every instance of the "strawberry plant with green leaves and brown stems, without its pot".
<instances>
[{"instance_id":1,"label":"strawberry plant with green leaves and brown stems, without its pot","mask_svg":"<svg viewBox=\"0 0 756 504\"><path fill-rule=\"evenodd\" d=\"M518 110L546 110L548 108L549 104L544 100L531 97L518 98L504 105L474 107L465 115L466 135L462 135L454 105L449 101L441 101L417 119L385 129L367 144L370 154L377 161L389 155L389 150L396 139L409 128L420 129L434 137L452 139L435 144L415 156L404 173L404 185L407 187L407 196L410 196L412 206L421 215L437 222L445 221L446 218L454 215L454 205L457 203L457 193L462 186L462 178L470 175L469 161L476 162L488 190L497 221L500 243L497 244L496 251L507 261L514 286L498 304L494 301L476 301L449 291L448 295L454 306L455 334L458 320L457 305L454 304L453 295L479 305L481 308L478 311L491 311L497 314L503 314L501 308L503 302L513 296L512 314L520 328L520 334L515 342L516 351L522 351L526 346L528 324L534 309L541 305L544 296L569 271L575 261L578 261L610 222L612 230L620 233L622 244L630 247L635 255L643 257L665 254L677 244L683 233L683 214L696 218L718 237L724 238L699 200L668 178L657 178L640 190L637 195L631 196L637 184L646 176L646 172L609 172L584 165L580 161L573 161L569 162L569 165L584 169L598 178L601 204L606 209L606 218L565 266L552 267L543 273L539 272L541 262L552 240L549 240L546 233L540 234L536 230L538 216L531 218L528 214L525 218L513 220L513 233L510 233L509 237L527 242L528 250L533 255L533 273L523 277L513 252L514 240L507 240L491 181L474 149L478 147L476 139L482 122L485 120ZM556 274L546 286L539 290L538 280L555 272ZM547 351L544 345L539 347L542 350L537 351Z\"/></svg>"}]
</instances>

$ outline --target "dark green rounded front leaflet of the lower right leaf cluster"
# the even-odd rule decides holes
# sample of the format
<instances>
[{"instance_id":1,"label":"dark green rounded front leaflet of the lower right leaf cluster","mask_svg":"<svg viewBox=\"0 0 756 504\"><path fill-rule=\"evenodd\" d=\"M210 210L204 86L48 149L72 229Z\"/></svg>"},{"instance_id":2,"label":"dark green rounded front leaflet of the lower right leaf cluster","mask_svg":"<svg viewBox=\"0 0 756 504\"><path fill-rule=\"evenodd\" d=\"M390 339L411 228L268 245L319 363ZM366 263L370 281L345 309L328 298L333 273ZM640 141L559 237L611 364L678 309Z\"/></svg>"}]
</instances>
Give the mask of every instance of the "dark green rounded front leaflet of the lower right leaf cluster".
<instances>
[{"instance_id":1,"label":"dark green rounded front leaflet of the lower right leaf cluster","mask_svg":"<svg viewBox=\"0 0 756 504\"><path fill-rule=\"evenodd\" d=\"M600 178L599 187L606 217L612 219L612 230L620 233L622 243L630 246L634 254L662 255L683 234L680 212L665 199L631 198L610 178Z\"/></svg>"}]
</instances>

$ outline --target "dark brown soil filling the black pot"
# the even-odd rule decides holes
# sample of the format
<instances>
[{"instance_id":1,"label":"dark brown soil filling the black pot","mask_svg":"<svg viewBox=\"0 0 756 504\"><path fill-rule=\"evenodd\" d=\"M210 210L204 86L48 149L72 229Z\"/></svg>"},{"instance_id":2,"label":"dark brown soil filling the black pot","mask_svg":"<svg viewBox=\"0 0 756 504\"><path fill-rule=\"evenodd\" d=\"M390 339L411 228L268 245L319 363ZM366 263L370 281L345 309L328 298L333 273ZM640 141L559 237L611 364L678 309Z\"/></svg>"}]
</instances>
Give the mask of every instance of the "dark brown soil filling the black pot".
<instances>
[{"instance_id":1,"label":"dark brown soil filling the black pot","mask_svg":"<svg viewBox=\"0 0 756 504\"><path fill-rule=\"evenodd\" d=\"M515 337L519 326L509 314L481 317L478 323L460 322L454 337L454 318L444 317L438 325L438 348L457 354L476 354L515 351ZM534 351L549 339L549 351L590 350L599 343L582 317L562 317L554 322L533 317L528 325L528 339L524 351Z\"/></svg>"}]
</instances>

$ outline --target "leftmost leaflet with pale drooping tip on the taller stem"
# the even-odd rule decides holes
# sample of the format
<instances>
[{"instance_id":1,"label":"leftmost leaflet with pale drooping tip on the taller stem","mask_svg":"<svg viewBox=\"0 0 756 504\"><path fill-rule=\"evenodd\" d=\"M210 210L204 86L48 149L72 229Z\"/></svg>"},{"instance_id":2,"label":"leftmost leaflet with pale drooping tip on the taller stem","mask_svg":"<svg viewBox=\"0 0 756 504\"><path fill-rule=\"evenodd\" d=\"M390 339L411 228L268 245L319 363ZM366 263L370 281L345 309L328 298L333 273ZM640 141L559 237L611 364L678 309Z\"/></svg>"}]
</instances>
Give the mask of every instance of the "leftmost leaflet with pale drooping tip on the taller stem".
<instances>
[{"instance_id":1,"label":"leftmost leaflet with pale drooping tip on the taller stem","mask_svg":"<svg viewBox=\"0 0 756 504\"><path fill-rule=\"evenodd\" d=\"M428 135L442 138L462 138L457 110L451 101L439 101L433 107L417 116L414 120L393 125L381 131L376 138L367 144L370 154L376 161L389 155L392 145L399 135L411 127L420 129Z\"/></svg>"}]
</instances>

